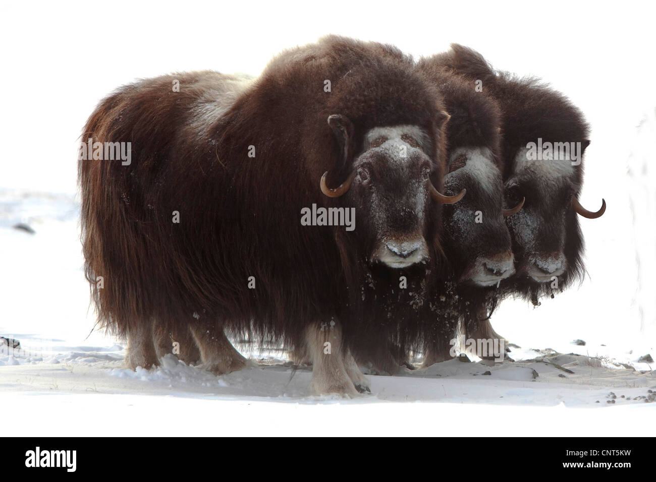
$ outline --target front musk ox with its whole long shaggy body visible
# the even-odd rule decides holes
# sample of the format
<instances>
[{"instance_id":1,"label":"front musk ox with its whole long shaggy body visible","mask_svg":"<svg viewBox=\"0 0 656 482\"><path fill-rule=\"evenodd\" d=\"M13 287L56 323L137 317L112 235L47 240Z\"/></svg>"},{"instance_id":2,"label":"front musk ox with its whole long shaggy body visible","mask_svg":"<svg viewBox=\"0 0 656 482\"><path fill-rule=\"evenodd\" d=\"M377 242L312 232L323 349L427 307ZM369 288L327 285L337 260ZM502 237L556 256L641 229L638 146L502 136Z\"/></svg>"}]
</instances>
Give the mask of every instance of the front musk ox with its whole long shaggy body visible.
<instances>
[{"instance_id":1,"label":"front musk ox with its whole long shaggy body visible","mask_svg":"<svg viewBox=\"0 0 656 482\"><path fill-rule=\"evenodd\" d=\"M306 351L318 393L366 388L348 350L368 323L340 313L363 280L438 263L440 203L462 195L439 191L443 110L411 58L340 37L283 52L247 86L186 73L103 100L83 139L131 142L132 161L79 162L83 251L128 365L157 363L156 327L189 331L222 373L245 363L224 332L252 334ZM314 204L355 208L356 229L302 226Z\"/></svg>"}]
</instances>

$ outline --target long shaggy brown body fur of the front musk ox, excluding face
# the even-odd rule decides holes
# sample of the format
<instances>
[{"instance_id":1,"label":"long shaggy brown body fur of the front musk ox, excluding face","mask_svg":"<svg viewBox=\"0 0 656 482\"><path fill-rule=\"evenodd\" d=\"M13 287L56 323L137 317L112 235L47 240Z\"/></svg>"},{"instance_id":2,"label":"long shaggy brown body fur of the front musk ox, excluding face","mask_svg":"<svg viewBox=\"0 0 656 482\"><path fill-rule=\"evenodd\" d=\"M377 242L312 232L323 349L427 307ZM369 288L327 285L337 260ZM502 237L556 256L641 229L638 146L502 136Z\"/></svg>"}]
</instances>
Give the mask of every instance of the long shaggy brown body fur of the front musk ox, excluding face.
<instances>
[{"instance_id":1,"label":"long shaggy brown body fur of the front musk ox, excluding face","mask_svg":"<svg viewBox=\"0 0 656 482\"><path fill-rule=\"evenodd\" d=\"M440 95L394 47L326 37L283 52L243 92L217 87L225 80L201 72L140 81L87 121L83 139L132 142L129 166L79 162L85 270L98 320L117 334L152 319L183 330L216 319L230 332L296 345L308 323L358 299L362 253L344 228L300 225L302 207L342 202L319 191L324 171L337 186L349 170L329 115L353 121L351 159L367 129L419 125L441 187ZM358 320L350 321L345 335Z\"/></svg>"}]
</instances>

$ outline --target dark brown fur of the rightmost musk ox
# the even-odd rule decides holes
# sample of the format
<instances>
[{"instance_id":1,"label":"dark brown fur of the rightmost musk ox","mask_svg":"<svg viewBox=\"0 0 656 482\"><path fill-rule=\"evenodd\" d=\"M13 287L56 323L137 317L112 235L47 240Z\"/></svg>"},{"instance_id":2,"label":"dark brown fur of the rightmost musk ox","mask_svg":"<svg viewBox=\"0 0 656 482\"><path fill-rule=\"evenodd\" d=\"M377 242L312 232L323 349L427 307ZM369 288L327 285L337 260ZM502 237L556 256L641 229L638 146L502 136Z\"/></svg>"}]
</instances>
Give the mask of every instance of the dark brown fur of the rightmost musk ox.
<instances>
[{"instance_id":1,"label":"dark brown fur of the rightmost musk ox","mask_svg":"<svg viewBox=\"0 0 656 482\"><path fill-rule=\"evenodd\" d=\"M543 142L581 142L583 150L589 144L589 128L583 113L560 92L550 89L534 77L520 78L504 71L494 70L478 52L453 44L451 50L437 56L445 68L462 75L468 81L480 79L483 92L497 100L502 110L502 159L506 184L506 204L514 205L526 197L525 210L539 213L542 218L539 237L543 252L563 252L567 269L558 277L558 291L580 279L583 267L583 237L577 214L569 208L571 196L578 196L583 184L583 161L575 167L573 176L563 178L556 196L540 195L539 179L511 179L515 172L514 157L517 151L542 138ZM583 152L581 153L583 155ZM510 185L512 184L512 185ZM560 220L564 216L564 220ZM564 229L560 224L564 223ZM518 293L539 304L539 297L552 294L549 283L537 283L523 274L531 253L517 242L513 232L516 224L511 218L508 226L512 233L513 251L518 274L504 283L500 296ZM476 334L496 335L488 320L472 321L466 330Z\"/></svg>"}]
</instances>

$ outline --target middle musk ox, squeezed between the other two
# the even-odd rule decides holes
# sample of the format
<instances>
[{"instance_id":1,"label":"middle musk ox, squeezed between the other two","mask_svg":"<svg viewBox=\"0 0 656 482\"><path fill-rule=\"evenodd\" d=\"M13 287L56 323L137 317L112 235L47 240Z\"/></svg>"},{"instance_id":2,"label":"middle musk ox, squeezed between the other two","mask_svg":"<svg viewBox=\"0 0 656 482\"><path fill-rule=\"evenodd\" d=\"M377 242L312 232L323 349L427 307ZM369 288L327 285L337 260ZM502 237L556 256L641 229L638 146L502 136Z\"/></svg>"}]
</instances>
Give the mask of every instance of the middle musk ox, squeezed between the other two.
<instances>
[{"instance_id":1,"label":"middle musk ox, squeezed between the other two","mask_svg":"<svg viewBox=\"0 0 656 482\"><path fill-rule=\"evenodd\" d=\"M414 337L413 344L392 326L387 334L391 349L375 353L354 350L361 365L379 373L394 373L404 364L409 367L403 363L408 347L424 351L424 365L450 358L449 342L457 337L460 322L470 328L468 338L475 337L478 320L488 317L493 308L497 283L514 273L504 216L516 214L522 205L502 209L499 106L434 58L420 60L417 70L438 87L451 115L446 126L448 174L444 191L455 194L466 190L467 195L443 207L441 239L448 269L434 273L428 292L416 290L422 295L422 304L415 306L420 336ZM370 309L375 312L377 308ZM395 317L400 315L398 311ZM382 327L389 325L385 323L387 314L377 316Z\"/></svg>"}]
</instances>

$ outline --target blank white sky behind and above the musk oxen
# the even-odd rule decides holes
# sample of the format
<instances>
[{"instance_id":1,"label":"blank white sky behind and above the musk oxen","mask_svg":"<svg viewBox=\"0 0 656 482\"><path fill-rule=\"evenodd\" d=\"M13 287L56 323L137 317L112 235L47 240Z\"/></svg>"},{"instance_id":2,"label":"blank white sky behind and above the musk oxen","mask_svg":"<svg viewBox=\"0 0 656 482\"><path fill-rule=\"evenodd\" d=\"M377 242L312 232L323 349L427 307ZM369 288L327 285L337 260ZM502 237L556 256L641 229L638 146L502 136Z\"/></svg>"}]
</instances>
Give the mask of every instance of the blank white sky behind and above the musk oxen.
<instances>
[{"instance_id":1,"label":"blank white sky behind and above the musk oxen","mask_svg":"<svg viewBox=\"0 0 656 482\"><path fill-rule=\"evenodd\" d=\"M626 163L636 126L648 112L653 119L656 106L653 2L20 2L3 4L0 17L0 188L74 193L81 128L119 85L184 70L256 75L277 52L327 33L392 43L417 57L462 43L497 68L542 77L592 125L581 202L596 210L605 197L608 210L600 220L582 220L592 284L540 310L523 307L519 316L565 326L575 310L592 332L620 336L621 321L626 336L644 334L636 293L654 287L656 267L643 267L649 280L636 281ZM644 154L651 144L642 144ZM651 169L646 212L653 216ZM642 226L655 239L653 219ZM642 298L653 304L653 296ZM506 334L503 317L495 319Z\"/></svg>"}]
</instances>

